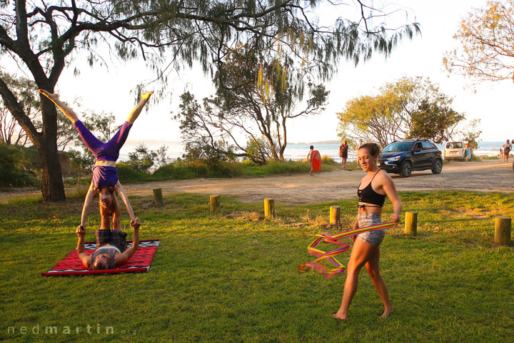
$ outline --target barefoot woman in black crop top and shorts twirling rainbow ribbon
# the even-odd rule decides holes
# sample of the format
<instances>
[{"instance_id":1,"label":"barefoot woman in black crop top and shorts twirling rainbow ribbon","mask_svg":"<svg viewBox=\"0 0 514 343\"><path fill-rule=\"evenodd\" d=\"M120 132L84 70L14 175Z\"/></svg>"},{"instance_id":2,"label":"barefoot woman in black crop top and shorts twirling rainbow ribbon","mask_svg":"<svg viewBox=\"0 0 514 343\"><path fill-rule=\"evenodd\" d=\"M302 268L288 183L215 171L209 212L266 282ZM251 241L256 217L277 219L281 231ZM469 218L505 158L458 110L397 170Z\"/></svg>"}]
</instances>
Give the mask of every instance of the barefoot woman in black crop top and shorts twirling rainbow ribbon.
<instances>
[{"instance_id":1,"label":"barefoot woman in black crop top and shorts twirling rainbow ribbon","mask_svg":"<svg viewBox=\"0 0 514 343\"><path fill-rule=\"evenodd\" d=\"M402 202L396 193L393 180L388 173L382 171L377 165L380 147L375 143L363 144L357 152L357 159L361 163L366 176L362 178L357 189L358 214L353 229L369 227L381 224L382 207L385 197L393 203L393 214L390 218L398 222L402 211ZM363 186L366 185L366 186ZM373 231L363 232L353 236L353 247L346 268L346 281L343 290L343 299L338 312L333 313L336 319L348 319L348 308L351 300L357 292L358 274L362 267L366 267L375 286L378 295L381 297L384 312L382 318L388 317L393 312L393 305L390 302L388 289L380 274L380 244L383 241L385 232Z\"/></svg>"}]
</instances>

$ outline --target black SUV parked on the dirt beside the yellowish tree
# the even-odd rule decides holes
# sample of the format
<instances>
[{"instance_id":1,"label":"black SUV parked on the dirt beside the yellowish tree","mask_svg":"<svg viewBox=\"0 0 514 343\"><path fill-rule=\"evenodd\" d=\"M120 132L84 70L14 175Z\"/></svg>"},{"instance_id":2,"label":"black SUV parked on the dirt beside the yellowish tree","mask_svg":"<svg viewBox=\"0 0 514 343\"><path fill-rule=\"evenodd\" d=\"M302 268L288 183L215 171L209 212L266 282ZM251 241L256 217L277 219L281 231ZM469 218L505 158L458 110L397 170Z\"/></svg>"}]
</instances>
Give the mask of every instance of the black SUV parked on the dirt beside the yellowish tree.
<instances>
[{"instance_id":1,"label":"black SUV parked on the dirt beside the yellowish tree","mask_svg":"<svg viewBox=\"0 0 514 343\"><path fill-rule=\"evenodd\" d=\"M410 177L413 170L431 169L433 174L443 170L441 151L428 139L393 141L382 150L378 163L381 169L400 177Z\"/></svg>"}]
</instances>

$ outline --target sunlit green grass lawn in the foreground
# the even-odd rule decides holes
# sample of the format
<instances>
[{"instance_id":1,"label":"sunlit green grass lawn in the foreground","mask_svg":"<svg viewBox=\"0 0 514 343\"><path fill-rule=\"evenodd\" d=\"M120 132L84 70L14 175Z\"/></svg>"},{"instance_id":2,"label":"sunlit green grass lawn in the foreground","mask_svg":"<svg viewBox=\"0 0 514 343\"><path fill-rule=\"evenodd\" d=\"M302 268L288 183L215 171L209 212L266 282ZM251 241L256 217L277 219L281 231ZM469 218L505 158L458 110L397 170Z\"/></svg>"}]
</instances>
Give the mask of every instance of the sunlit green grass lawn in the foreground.
<instances>
[{"instance_id":1,"label":"sunlit green grass lawn in the foreground","mask_svg":"<svg viewBox=\"0 0 514 343\"><path fill-rule=\"evenodd\" d=\"M214 217L204 195L166 196L163 209L154 209L150 197L131 197L141 239L162 241L151 269L87 277L40 276L75 247L80 197L0 204L0 341L511 342L514 252L493 243L493 218L514 217L513 197L400 197L405 211L418 212L419 224L417 237L400 226L381 245L395 312L378 318L381 300L363 270L347 322L331 317L345 274L324 279L296 268L314 259L307 254L313 234L337 232L328 226L328 207L341 206L349 229L356 200L279 203L278 218L264 222L262 204L231 197L221 197L222 212ZM123 223L130 232L126 216ZM89 224L86 239L93 240L95 207ZM45 333L50 326L56 334Z\"/></svg>"}]
</instances>

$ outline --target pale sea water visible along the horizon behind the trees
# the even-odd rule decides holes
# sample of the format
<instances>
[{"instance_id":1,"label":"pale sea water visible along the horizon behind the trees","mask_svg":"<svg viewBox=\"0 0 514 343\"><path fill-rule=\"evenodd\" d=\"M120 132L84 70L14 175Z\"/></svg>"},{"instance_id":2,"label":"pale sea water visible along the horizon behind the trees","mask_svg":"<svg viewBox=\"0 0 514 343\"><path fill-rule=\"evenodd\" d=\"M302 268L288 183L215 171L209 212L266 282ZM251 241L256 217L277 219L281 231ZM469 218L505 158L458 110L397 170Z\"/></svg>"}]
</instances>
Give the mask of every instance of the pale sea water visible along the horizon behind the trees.
<instances>
[{"instance_id":1,"label":"pale sea water visible along the horizon behind the trees","mask_svg":"<svg viewBox=\"0 0 514 343\"><path fill-rule=\"evenodd\" d=\"M500 153L500 147L504 143L504 141L480 141L478 143L478 149L474 149L473 153L477 156L497 156ZM168 151L166 153L168 161L175 161L177 157L182 158L182 154L186 152L183 150L183 145L177 142L153 141L152 143L146 144L146 146L148 146L148 149L156 150L163 144L168 146ZM126 161L129 159L129 152L134 151L136 145L136 143L125 144L120 151L119 161ZM320 151L321 156L327 155L334 161L339 162L341 161L341 157L339 157L339 145L340 144L315 144L314 149ZM444 144L435 145L437 145L441 151L444 151ZM284 158L286 160L291 159L293 161L305 159L309 151L309 146L311 146L311 144L288 144L284 151ZM348 151L348 161L356 161L356 159L356 151L353 151L353 146L351 146Z\"/></svg>"}]
</instances>

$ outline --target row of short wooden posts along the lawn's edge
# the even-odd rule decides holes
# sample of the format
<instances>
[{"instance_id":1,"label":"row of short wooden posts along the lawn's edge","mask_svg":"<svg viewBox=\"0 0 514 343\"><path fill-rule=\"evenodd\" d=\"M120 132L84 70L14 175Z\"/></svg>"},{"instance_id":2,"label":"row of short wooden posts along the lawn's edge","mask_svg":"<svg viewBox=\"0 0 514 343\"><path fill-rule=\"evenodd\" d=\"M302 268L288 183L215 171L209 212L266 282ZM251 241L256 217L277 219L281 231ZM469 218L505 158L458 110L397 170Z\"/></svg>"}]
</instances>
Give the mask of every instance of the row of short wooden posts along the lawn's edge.
<instances>
[{"instance_id":1,"label":"row of short wooden posts along the lawn's edge","mask_svg":"<svg viewBox=\"0 0 514 343\"><path fill-rule=\"evenodd\" d=\"M220 208L219 195L211 195L209 198L211 205L211 213L215 214ZM153 189L153 204L156 207L163 206L162 190L160 188ZM275 217L275 200L264 199L264 218L273 219ZM341 224L341 207L330 207L330 224L339 227ZM495 218L495 244L510 246L510 217ZM418 212L405 212L405 234L415 236L418 234Z\"/></svg>"}]
</instances>

